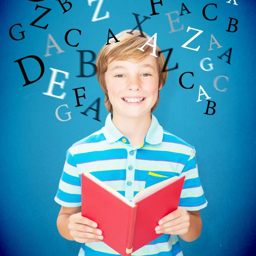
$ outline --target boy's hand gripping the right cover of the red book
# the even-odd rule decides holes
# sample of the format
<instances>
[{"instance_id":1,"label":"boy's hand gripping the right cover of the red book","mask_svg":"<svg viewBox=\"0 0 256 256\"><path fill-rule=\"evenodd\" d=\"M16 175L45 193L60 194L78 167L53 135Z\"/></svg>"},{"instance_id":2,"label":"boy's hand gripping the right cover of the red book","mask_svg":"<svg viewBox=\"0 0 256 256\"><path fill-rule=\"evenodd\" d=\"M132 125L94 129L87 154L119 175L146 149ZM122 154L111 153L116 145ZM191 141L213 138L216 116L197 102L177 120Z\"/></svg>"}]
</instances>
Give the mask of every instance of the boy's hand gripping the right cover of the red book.
<instances>
[{"instance_id":1,"label":"boy's hand gripping the right cover of the red book","mask_svg":"<svg viewBox=\"0 0 256 256\"><path fill-rule=\"evenodd\" d=\"M161 224L160 221L163 223ZM160 228L156 233L169 235L184 235L188 232L190 226L190 215L186 208L178 207L175 211L169 213L158 221Z\"/></svg>"}]
</instances>

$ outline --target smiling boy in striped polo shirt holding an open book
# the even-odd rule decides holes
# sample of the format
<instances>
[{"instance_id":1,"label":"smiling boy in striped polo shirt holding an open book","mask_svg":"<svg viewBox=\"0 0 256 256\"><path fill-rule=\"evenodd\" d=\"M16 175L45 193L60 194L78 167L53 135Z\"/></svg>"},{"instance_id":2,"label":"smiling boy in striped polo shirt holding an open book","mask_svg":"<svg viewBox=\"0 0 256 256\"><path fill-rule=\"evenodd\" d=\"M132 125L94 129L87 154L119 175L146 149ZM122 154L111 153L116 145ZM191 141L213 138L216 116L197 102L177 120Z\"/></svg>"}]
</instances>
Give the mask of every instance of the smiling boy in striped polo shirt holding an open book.
<instances>
[{"instance_id":1,"label":"smiling boy in striped polo shirt holding an open book","mask_svg":"<svg viewBox=\"0 0 256 256\"><path fill-rule=\"evenodd\" d=\"M186 175L178 209L158 223L156 233L162 236L131 254L182 256L177 235L184 241L197 239L202 226L199 209L207 206L195 148L163 130L151 114L167 79L162 72L165 58L150 55L153 47L148 44L144 51L138 49L150 39L148 35L127 32L116 35L120 42L111 38L111 44L102 47L97 56L96 75L109 114L104 127L67 150L55 196L61 204L57 227L61 236L81 243L79 256L117 254L104 243L97 224L81 216L81 173L90 172L130 201L163 177ZM153 45L152 40L149 43Z\"/></svg>"}]
</instances>

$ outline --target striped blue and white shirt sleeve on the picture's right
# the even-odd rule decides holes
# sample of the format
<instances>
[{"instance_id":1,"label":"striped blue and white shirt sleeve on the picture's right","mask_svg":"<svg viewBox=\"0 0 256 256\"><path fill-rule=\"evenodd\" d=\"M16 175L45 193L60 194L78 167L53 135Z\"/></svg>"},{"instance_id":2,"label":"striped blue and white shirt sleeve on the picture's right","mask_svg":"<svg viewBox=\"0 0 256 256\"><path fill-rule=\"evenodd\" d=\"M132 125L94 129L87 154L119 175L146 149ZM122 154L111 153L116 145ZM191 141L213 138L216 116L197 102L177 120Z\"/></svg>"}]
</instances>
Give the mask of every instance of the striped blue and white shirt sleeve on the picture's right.
<instances>
[{"instance_id":1,"label":"striped blue and white shirt sleeve on the picture's right","mask_svg":"<svg viewBox=\"0 0 256 256\"><path fill-rule=\"evenodd\" d=\"M180 177L185 175L185 180L180 195L179 206L186 208L187 211L197 211L207 207L208 204L198 176L195 152L195 148L193 148L188 162L180 173Z\"/></svg>"}]
</instances>

